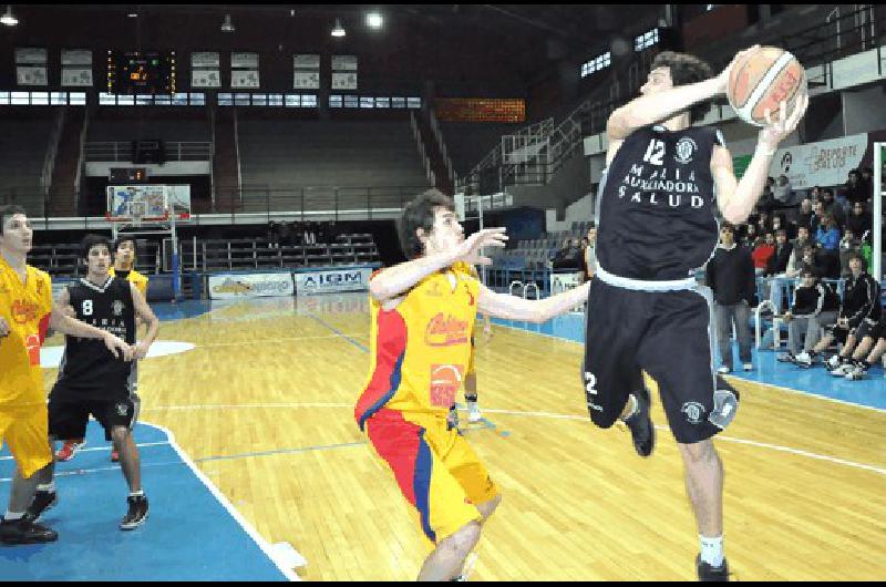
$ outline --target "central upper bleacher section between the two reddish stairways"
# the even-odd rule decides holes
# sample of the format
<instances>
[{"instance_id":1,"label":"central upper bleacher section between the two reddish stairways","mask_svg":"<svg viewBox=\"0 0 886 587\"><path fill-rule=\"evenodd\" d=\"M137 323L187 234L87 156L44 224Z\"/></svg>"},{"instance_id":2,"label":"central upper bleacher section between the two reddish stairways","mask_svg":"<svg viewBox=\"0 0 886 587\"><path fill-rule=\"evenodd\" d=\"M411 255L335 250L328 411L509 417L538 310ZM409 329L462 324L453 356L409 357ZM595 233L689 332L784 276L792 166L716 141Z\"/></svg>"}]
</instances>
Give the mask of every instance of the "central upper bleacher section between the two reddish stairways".
<instances>
[{"instance_id":1,"label":"central upper bleacher section between the two reddish stairways","mask_svg":"<svg viewBox=\"0 0 886 587\"><path fill-rule=\"evenodd\" d=\"M265 186L295 194L311 186L305 210L321 210L334 205L337 187L364 207L367 187L430 185L408 122L241 119L238 134L245 212L267 209ZM400 194L373 192L372 205L399 207Z\"/></svg>"}]
</instances>

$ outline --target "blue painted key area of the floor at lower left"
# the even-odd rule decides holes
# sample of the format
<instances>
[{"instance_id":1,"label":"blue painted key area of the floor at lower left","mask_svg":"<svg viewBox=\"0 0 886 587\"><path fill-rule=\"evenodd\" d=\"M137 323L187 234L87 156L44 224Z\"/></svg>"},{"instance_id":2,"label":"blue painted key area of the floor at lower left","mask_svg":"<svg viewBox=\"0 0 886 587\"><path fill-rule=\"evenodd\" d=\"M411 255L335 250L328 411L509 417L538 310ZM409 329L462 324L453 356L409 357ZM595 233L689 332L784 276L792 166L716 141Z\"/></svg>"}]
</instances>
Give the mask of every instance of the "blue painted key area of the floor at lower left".
<instances>
[{"instance_id":1,"label":"blue painted key area of the floor at lower left","mask_svg":"<svg viewBox=\"0 0 886 587\"><path fill-rule=\"evenodd\" d=\"M138 423L135 439L151 509L130 532L127 487L110 443L90 422L86 446L59 463L59 504L41 522L59 533L47 545L0 547L0 579L14 580L290 580L272 547L249 527L171 442L168 433ZM0 503L7 504L14 464L0 452Z\"/></svg>"}]
</instances>

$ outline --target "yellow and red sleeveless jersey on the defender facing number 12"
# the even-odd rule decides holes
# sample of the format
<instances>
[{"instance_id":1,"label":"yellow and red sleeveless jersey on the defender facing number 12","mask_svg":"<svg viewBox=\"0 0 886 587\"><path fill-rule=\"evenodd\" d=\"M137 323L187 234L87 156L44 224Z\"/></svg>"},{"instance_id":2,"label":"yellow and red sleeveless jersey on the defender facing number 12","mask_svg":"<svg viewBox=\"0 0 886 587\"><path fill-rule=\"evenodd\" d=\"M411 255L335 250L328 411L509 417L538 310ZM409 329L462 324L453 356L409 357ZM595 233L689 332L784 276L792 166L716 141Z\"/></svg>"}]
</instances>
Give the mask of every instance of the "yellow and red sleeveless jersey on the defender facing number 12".
<instances>
[{"instance_id":1,"label":"yellow and red sleeveless jersey on the defender facing number 12","mask_svg":"<svg viewBox=\"0 0 886 587\"><path fill-rule=\"evenodd\" d=\"M392 310L370 299L370 374L354 408L361 429L382 408L445 418L467 371L478 296L480 282L453 266Z\"/></svg>"}]
</instances>

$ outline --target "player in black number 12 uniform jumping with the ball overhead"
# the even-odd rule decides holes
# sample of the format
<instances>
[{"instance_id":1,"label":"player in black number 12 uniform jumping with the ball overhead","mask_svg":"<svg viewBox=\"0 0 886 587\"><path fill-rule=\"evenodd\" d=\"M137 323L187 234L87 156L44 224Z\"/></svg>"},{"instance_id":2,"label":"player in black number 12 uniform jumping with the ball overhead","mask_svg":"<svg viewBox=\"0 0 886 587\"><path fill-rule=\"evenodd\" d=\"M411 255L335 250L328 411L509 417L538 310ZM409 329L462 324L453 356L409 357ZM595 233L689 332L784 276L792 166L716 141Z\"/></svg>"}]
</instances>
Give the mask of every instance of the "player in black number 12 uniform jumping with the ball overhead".
<instances>
[{"instance_id":1,"label":"player in black number 12 uniform jumping with the ball overhead","mask_svg":"<svg viewBox=\"0 0 886 587\"><path fill-rule=\"evenodd\" d=\"M709 101L725 93L730 68L712 78L710 66L692 55L660 53L640 97L609 117L584 365L591 420L600 428L625 421L641 456L655 445L642 372L658 383L701 539L701 580L729 577L723 467L711 437L730 423L738 398L714 373L710 290L693 275L713 255L718 218L748 218L779 143L808 103L801 90L792 113L782 103L769 114L774 122L760 131L738 182L720 133L692 127Z\"/></svg>"}]
</instances>

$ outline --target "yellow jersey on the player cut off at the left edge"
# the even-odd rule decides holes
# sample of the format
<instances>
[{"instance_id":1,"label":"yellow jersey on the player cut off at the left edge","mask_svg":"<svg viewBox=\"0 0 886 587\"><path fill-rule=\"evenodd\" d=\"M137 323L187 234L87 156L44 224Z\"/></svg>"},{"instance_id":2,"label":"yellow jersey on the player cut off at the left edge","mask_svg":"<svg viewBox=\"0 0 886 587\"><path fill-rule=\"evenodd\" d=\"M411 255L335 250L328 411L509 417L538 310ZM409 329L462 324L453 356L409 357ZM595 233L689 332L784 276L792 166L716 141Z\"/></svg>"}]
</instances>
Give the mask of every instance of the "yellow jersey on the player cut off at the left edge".
<instances>
[{"instance_id":1,"label":"yellow jersey on the player cut off at the left edge","mask_svg":"<svg viewBox=\"0 0 886 587\"><path fill-rule=\"evenodd\" d=\"M47 338L52 313L52 280L28 266L21 282L18 274L0 257L0 317L10 327L0 339L0 409L45 403L40 347Z\"/></svg>"}]
</instances>

